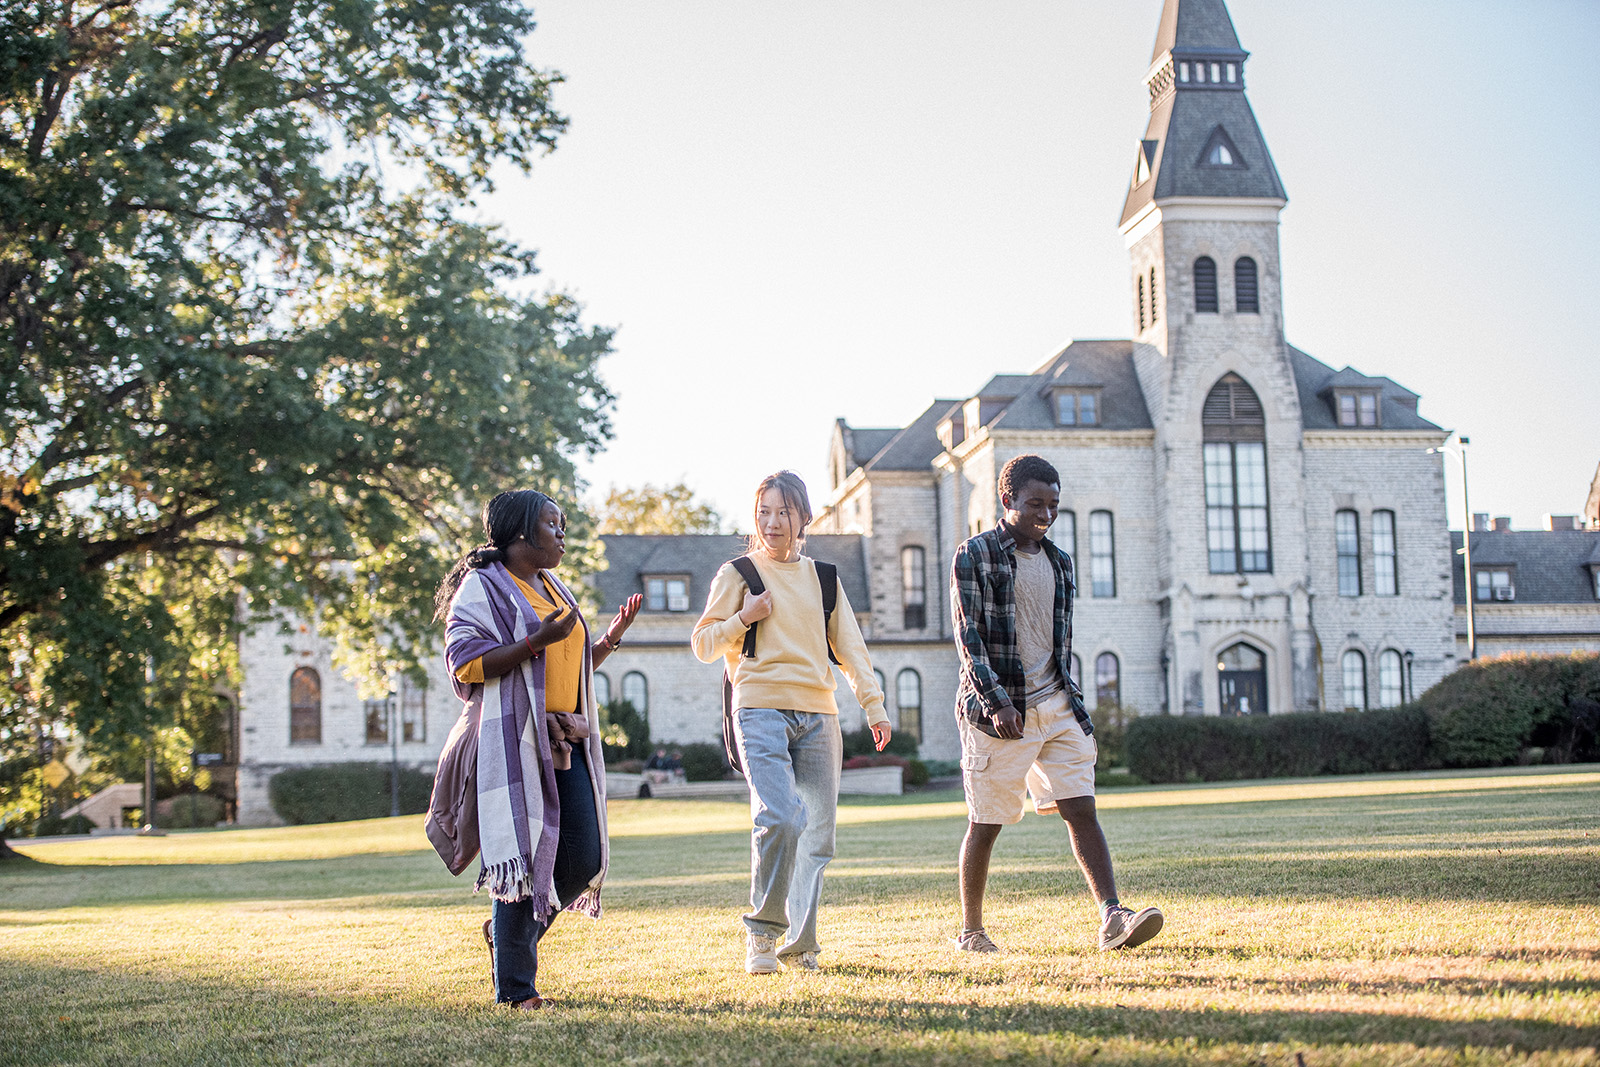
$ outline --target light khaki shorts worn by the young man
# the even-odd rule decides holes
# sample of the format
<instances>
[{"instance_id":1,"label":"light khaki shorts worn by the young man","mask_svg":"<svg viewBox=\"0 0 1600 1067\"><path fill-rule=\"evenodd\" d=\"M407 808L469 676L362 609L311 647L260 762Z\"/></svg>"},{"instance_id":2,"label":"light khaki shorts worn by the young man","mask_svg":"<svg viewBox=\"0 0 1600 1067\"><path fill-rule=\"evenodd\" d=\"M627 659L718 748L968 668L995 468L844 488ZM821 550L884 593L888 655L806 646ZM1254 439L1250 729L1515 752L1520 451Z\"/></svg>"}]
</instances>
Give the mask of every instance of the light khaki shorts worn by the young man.
<instances>
[{"instance_id":1,"label":"light khaki shorts worn by the young man","mask_svg":"<svg viewBox=\"0 0 1600 1067\"><path fill-rule=\"evenodd\" d=\"M990 737L965 715L957 723L962 734L962 785L973 822L1021 822L1024 790L1040 814L1054 811L1058 800L1094 795L1099 745L1083 733L1066 689L1027 709L1022 736L1016 741Z\"/></svg>"}]
</instances>

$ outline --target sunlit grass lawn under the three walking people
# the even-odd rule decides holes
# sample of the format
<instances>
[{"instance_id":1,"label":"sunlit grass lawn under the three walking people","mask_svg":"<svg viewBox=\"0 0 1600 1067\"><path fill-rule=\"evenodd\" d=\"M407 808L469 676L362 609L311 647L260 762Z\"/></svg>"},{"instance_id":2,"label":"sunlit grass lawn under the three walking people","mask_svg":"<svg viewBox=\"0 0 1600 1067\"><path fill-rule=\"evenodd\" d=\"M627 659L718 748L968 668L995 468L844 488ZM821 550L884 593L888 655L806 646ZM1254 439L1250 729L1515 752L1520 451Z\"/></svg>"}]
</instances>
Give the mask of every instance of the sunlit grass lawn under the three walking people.
<instances>
[{"instance_id":1,"label":"sunlit grass lawn under the three walking people","mask_svg":"<svg viewBox=\"0 0 1600 1067\"><path fill-rule=\"evenodd\" d=\"M750 977L741 803L611 805L600 921L490 1003L488 901L421 817L18 843L0 1064L1600 1064L1600 766L1115 790L1118 953L1059 819L949 949L960 793L846 800L822 971Z\"/></svg>"}]
</instances>

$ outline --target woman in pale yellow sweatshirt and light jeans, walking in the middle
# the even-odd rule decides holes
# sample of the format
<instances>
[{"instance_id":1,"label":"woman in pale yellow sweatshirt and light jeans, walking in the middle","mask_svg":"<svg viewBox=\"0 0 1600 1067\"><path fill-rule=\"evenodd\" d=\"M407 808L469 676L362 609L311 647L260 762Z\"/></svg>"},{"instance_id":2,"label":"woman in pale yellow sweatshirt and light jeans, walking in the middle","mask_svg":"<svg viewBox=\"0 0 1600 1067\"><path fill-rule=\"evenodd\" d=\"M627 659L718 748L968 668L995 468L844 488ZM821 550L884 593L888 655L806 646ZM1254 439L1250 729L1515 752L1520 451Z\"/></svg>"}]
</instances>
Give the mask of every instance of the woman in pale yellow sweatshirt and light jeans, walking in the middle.
<instances>
[{"instance_id":1,"label":"woman in pale yellow sweatshirt and light jeans, walking in the middle","mask_svg":"<svg viewBox=\"0 0 1600 1067\"><path fill-rule=\"evenodd\" d=\"M725 563L691 638L701 662L722 659L733 681L734 737L755 824L744 917L750 974L771 974L779 963L814 971L821 950L816 909L822 870L834 857L843 765L830 646L878 750L890 742L883 691L842 587L824 635L816 561L800 553L810 522L800 475L768 475L755 491L757 533L747 555L765 590L752 593L734 563ZM758 627L755 654L744 656L752 625Z\"/></svg>"}]
</instances>

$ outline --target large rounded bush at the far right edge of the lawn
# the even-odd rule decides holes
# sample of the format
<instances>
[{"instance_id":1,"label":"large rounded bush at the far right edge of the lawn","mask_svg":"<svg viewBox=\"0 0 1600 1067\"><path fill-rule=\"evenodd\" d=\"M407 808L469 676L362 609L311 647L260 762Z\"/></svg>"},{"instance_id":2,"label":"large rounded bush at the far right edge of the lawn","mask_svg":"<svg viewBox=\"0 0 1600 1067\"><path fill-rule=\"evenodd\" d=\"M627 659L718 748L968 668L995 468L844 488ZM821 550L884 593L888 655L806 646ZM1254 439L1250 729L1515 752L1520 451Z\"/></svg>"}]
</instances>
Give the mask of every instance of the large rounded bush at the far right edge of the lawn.
<instances>
[{"instance_id":1,"label":"large rounded bush at the far right edge of the lawn","mask_svg":"<svg viewBox=\"0 0 1600 1067\"><path fill-rule=\"evenodd\" d=\"M1418 697L1445 766L1501 766L1528 745L1555 763L1595 758L1600 656L1478 659Z\"/></svg>"}]
</instances>

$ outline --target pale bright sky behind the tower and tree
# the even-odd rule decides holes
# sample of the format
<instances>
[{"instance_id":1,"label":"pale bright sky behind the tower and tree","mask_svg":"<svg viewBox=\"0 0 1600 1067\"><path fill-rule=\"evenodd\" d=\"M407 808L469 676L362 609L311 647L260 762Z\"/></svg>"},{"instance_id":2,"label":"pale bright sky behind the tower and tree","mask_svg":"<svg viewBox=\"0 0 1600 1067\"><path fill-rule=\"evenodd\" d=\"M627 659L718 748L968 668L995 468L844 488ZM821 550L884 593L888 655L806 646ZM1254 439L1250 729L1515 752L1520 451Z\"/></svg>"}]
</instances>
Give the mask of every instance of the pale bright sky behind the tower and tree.
<instances>
[{"instance_id":1,"label":"pale bright sky behind the tower and tree","mask_svg":"<svg viewBox=\"0 0 1600 1067\"><path fill-rule=\"evenodd\" d=\"M1470 437L1472 510L1600 464L1594 0L1232 0L1290 203L1288 341ZM544 0L571 120L482 211L618 330L589 496L688 483L749 530L834 419L904 426L1126 338L1117 221L1160 0ZM1461 483L1446 466L1451 526Z\"/></svg>"}]
</instances>

